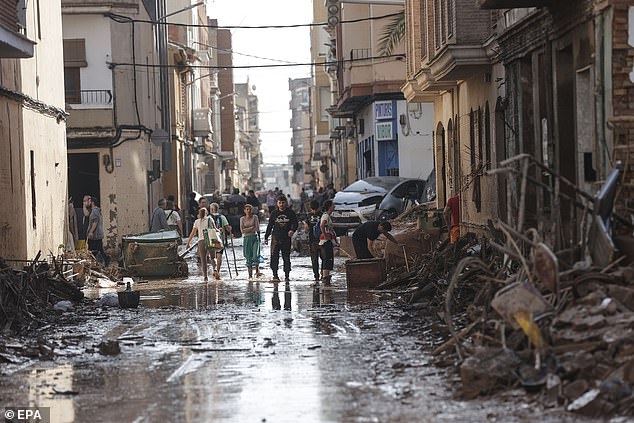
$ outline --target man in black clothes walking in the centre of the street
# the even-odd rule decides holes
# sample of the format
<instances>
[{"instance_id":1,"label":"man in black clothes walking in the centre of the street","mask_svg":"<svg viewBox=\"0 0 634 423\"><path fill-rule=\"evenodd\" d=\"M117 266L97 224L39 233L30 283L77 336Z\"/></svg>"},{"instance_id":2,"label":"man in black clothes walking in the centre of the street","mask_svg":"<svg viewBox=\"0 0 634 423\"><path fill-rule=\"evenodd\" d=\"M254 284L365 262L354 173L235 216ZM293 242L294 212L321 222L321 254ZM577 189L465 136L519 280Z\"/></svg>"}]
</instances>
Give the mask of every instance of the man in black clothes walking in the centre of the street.
<instances>
[{"instance_id":1,"label":"man in black clothes walking in the centre of the street","mask_svg":"<svg viewBox=\"0 0 634 423\"><path fill-rule=\"evenodd\" d=\"M280 253L284 261L285 280L290 280L291 273L291 237L297 230L297 215L288 208L284 194L277 197L277 208L271 212L269 223L264 234L264 243L268 245L271 236L271 270L273 282L279 282L278 267Z\"/></svg>"}]
</instances>

